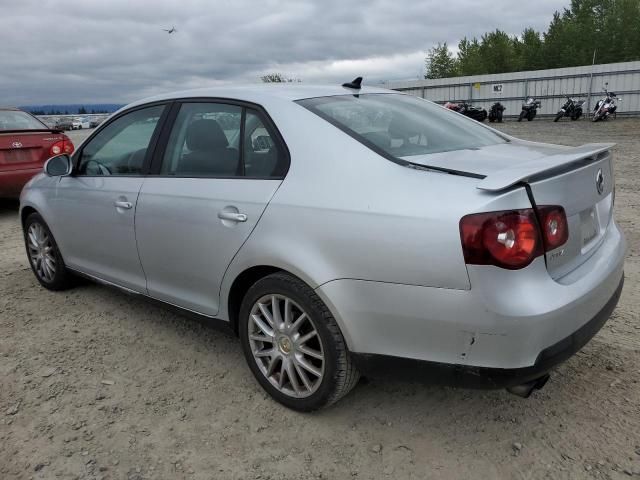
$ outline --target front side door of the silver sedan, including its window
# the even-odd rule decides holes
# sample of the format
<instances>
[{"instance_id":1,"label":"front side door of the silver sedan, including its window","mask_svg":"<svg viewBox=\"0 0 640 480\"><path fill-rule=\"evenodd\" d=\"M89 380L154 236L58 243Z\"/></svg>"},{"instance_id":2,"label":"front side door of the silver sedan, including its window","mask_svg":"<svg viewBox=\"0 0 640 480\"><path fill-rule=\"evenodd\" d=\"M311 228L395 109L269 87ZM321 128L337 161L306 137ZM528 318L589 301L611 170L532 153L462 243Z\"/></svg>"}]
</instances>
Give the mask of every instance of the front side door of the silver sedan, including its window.
<instances>
[{"instance_id":1,"label":"front side door of the silver sedan, including its window","mask_svg":"<svg viewBox=\"0 0 640 480\"><path fill-rule=\"evenodd\" d=\"M76 173L62 177L54 215L65 262L72 269L146 292L135 237L135 211L145 159L163 105L116 118L78 152Z\"/></svg>"}]
</instances>

